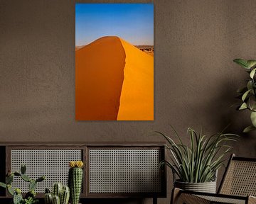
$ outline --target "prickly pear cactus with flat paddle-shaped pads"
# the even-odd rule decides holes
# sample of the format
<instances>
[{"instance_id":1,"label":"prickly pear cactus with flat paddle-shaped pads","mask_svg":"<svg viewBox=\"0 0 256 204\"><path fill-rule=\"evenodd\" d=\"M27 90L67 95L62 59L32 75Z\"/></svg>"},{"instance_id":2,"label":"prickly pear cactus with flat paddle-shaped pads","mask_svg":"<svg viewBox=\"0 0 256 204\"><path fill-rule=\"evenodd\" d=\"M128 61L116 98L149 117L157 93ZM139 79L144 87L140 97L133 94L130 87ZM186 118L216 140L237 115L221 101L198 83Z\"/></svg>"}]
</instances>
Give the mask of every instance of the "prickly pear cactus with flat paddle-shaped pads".
<instances>
[{"instance_id":1,"label":"prickly pear cactus with flat paddle-shaped pads","mask_svg":"<svg viewBox=\"0 0 256 204\"><path fill-rule=\"evenodd\" d=\"M25 198L21 195L20 188L13 188L11 183L14 181L14 176L18 176L23 181L28 182L28 193L26 193ZM36 186L38 182L45 180L45 176L41 176L38 179L31 179L28 175L26 175L26 165L21 165L21 172L11 172L9 171L6 176L6 183L0 182L0 186L3 188L7 188L7 191L13 196L13 203L14 204L36 204L38 200L36 199Z\"/></svg>"}]
</instances>

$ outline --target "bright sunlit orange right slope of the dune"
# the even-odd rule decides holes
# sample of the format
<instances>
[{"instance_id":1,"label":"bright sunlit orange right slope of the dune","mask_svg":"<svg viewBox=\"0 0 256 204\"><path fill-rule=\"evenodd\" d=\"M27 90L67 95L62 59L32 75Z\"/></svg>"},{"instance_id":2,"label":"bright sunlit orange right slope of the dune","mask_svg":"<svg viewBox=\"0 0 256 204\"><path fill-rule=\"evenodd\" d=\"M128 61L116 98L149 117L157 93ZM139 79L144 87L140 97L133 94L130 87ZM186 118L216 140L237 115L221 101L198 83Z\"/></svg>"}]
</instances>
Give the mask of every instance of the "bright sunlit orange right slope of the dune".
<instances>
[{"instance_id":1,"label":"bright sunlit orange right slope of the dune","mask_svg":"<svg viewBox=\"0 0 256 204\"><path fill-rule=\"evenodd\" d=\"M126 59L117 120L154 120L154 57L120 40Z\"/></svg>"}]
</instances>

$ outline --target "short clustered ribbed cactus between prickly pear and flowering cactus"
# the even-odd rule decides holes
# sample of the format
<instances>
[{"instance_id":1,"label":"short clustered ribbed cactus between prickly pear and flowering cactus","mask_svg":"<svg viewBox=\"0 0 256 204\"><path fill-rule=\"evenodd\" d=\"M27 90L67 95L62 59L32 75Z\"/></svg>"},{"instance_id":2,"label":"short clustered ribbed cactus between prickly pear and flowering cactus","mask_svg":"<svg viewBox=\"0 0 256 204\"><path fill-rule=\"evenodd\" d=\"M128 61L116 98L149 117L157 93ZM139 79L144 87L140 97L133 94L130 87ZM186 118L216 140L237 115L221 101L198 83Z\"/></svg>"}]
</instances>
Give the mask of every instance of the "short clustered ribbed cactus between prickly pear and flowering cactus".
<instances>
[{"instance_id":1,"label":"short clustered ribbed cactus between prickly pear and flowering cactus","mask_svg":"<svg viewBox=\"0 0 256 204\"><path fill-rule=\"evenodd\" d=\"M54 183L53 192L46 188L45 203L46 204L68 204L70 198L70 189L61 183Z\"/></svg>"}]
</instances>

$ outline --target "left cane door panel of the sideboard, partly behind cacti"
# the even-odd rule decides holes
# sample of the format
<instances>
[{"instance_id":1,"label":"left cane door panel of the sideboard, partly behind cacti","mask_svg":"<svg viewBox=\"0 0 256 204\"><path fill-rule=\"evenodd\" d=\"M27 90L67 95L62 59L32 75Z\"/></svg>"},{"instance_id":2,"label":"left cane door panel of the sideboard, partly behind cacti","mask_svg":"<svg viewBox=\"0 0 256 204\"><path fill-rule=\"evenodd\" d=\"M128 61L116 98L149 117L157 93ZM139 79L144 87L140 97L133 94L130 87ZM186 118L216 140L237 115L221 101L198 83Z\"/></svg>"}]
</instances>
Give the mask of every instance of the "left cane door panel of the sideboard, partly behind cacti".
<instances>
[{"instance_id":1,"label":"left cane door panel of the sideboard, partly behind cacti","mask_svg":"<svg viewBox=\"0 0 256 204\"><path fill-rule=\"evenodd\" d=\"M26 174L31 179L46 176L46 180L38 183L36 193L44 193L46 188L52 188L53 183L68 185L68 162L83 160L82 149L73 148L47 148L35 149L26 147L21 149L11 147L9 149L11 164L8 169L20 172L21 164L26 164ZM28 182L14 176L12 183L14 188L20 188L22 192L28 192Z\"/></svg>"}]
</instances>

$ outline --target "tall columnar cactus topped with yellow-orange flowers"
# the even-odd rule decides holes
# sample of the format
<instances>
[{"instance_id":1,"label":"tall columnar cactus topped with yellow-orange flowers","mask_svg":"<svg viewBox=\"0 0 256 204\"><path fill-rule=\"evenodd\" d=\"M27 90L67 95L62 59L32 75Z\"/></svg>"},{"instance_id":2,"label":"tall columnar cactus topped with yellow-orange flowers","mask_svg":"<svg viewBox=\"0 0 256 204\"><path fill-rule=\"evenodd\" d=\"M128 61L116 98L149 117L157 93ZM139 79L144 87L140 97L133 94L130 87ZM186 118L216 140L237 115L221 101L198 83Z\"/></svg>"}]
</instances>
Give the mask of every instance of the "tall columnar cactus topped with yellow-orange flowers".
<instances>
[{"instance_id":1,"label":"tall columnar cactus topped with yellow-orange flowers","mask_svg":"<svg viewBox=\"0 0 256 204\"><path fill-rule=\"evenodd\" d=\"M70 162L68 172L68 185L72 204L78 204L82 188L82 161Z\"/></svg>"}]
</instances>

